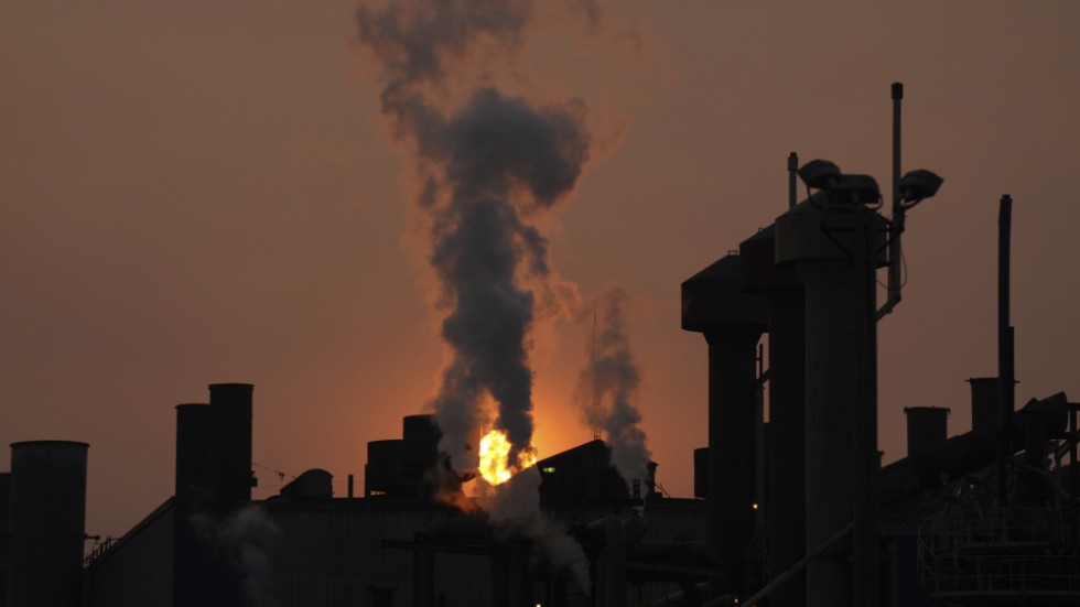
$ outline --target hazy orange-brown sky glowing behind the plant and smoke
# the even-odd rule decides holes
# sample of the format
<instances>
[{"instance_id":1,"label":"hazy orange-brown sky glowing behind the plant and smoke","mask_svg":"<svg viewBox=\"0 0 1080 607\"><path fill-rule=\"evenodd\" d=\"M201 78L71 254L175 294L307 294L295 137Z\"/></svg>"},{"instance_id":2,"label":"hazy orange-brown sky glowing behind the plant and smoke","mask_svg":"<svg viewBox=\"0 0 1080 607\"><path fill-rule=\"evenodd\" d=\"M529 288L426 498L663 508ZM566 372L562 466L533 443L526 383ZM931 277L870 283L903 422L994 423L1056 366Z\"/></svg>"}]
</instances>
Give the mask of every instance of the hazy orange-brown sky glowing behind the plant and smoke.
<instances>
[{"instance_id":1,"label":"hazy orange-brown sky glowing behind the plant and smoke","mask_svg":"<svg viewBox=\"0 0 1080 607\"><path fill-rule=\"evenodd\" d=\"M549 3L550 4L550 3ZM585 3L570 2L581 8ZM658 479L692 494L705 343L679 284L787 206L786 158L889 183L946 178L908 219L904 302L881 324L881 444L903 408L952 409L996 372L997 200L1015 199L1017 402L1080 394L1080 3L627 1L550 9L518 72L580 97L594 148L547 224L583 297L627 294ZM352 0L8 2L0 9L0 469L7 444L90 443L87 531L172 492L173 405L255 390L255 453L289 474L363 468L438 386L408 150L379 115ZM588 323L534 342L537 444L591 438L574 404ZM281 483L257 469L256 497Z\"/></svg>"}]
</instances>

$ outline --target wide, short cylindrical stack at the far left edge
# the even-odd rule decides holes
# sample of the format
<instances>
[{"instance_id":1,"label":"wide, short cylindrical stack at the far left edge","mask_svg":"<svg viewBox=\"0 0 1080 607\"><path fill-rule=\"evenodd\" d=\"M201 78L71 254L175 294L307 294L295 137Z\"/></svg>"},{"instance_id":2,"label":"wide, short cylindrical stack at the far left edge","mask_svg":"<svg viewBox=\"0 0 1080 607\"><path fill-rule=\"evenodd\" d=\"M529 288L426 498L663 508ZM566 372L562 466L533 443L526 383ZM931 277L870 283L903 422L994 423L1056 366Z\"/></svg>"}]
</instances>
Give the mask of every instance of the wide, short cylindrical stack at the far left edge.
<instances>
[{"instance_id":1,"label":"wide, short cylindrical stack at the far left edge","mask_svg":"<svg viewBox=\"0 0 1080 607\"><path fill-rule=\"evenodd\" d=\"M86 453L72 441L11 444L9 607L78 607Z\"/></svg>"}]
</instances>

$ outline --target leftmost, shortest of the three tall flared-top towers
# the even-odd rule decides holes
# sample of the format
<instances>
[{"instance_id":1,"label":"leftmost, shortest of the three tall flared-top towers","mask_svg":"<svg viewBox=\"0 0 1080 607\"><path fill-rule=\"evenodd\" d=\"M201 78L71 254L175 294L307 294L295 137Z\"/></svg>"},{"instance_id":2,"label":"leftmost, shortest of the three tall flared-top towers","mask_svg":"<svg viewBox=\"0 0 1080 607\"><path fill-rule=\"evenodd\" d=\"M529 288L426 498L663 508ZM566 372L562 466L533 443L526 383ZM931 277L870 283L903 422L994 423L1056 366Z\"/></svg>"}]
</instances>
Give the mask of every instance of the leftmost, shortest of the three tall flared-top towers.
<instances>
[{"instance_id":1,"label":"leftmost, shortest of the three tall flared-top towers","mask_svg":"<svg viewBox=\"0 0 1080 607\"><path fill-rule=\"evenodd\" d=\"M709 545L743 563L754 532L754 391L764 302L742 291L728 254L682 283L682 328L709 344ZM746 579L736 575L736 585ZM746 589L746 588L742 588Z\"/></svg>"}]
</instances>

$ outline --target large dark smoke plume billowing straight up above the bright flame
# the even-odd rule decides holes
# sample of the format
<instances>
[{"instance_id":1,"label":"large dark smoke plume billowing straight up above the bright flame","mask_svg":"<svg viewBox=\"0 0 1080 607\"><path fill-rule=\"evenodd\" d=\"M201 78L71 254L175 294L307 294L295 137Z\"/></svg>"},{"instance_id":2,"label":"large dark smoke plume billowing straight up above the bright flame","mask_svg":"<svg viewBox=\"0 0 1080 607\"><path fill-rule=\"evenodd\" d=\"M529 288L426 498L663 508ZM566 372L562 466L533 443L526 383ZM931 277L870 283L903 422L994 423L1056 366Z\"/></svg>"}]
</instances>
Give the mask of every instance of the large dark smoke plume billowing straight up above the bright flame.
<instances>
[{"instance_id":1,"label":"large dark smoke plume billowing straight up above the bright flame","mask_svg":"<svg viewBox=\"0 0 1080 607\"><path fill-rule=\"evenodd\" d=\"M452 354L433 405L440 449L460 471L476 468L487 398L510 462L530 448L528 336L551 289L536 220L566 197L588 156L581 101L538 106L490 84L450 100L493 50L512 57L523 46L531 14L526 0L413 0L363 4L357 17L386 83L382 112L424 183L418 207Z\"/></svg>"}]
</instances>

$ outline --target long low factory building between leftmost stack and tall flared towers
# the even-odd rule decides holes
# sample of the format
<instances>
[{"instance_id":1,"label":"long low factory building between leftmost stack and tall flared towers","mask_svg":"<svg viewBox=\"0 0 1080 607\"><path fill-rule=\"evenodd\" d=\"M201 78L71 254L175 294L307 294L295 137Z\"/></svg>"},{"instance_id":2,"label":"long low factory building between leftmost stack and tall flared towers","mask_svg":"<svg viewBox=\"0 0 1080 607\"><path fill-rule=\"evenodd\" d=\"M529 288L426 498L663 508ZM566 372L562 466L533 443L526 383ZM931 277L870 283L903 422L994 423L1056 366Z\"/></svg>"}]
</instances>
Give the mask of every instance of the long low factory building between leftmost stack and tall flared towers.
<instances>
[{"instance_id":1,"label":"long low factory building between leftmost stack and tall flared towers","mask_svg":"<svg viewBox=\"0 0 1080 607\"><path fill-rule=\"evenodd\" d=\"M698 541L704 503L661 498L651 477L627 484L602 441L536 466L546 520L582 546L586 587L563 565L537 565L542 539L463 509L469 498L436 499L432 415L407 416L402 438L368 444L363 497L335 497L330 473L314 469L251 501L252 387L209 392L209 404L176 407L176 495L88 559L85 607L584 606L598 595L666 597L722 573ZM615 534L618 559L607 548Z\"/></svg>"}]
</instances>

